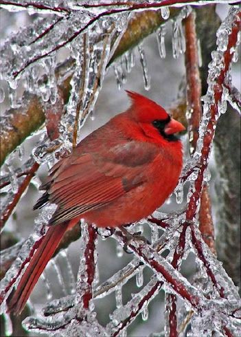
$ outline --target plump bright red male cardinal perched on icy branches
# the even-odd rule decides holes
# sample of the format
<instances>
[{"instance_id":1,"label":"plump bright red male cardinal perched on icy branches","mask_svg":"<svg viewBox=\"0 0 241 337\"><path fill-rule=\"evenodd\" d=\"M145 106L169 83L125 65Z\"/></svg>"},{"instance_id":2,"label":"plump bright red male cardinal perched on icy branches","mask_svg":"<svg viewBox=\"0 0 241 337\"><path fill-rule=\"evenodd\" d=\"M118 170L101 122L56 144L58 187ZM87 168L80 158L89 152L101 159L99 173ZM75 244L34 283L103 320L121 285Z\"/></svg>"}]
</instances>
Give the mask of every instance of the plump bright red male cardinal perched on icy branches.
<instances>
[{"instance_id":1,"label":"plump bright red male cardinal perched on icy branches","mask_svg":"<svg viewBox=\"0 0 241 337\"><path fill-rule=\"evenodd\" d=\"M175 133L185 127L157 103L127 91L132 105L51 168L46 190L34 209L58 208L36 249L9 311L20 313L63 235L80 219L97 227L118 227L150 215L174 190L183 163Z\"/></svg>"}]
</instances>

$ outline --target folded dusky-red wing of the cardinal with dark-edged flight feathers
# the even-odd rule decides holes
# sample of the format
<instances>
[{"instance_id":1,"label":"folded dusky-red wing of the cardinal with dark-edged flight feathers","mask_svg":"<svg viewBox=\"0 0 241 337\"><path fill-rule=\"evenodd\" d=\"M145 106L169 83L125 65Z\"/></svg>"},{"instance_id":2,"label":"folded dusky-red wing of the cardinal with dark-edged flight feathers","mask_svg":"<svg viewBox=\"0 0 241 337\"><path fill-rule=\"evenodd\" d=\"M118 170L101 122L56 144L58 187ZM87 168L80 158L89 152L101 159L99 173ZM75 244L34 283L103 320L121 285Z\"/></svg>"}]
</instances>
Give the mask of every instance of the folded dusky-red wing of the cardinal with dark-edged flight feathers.
<instances>
[{"instance_id":1,"label":"folded dusky-red wing of the cardinal with dark-edged flight feathers","mask_svg":"<svg viewBox=\"0 0 241 337\"><path fill-rule=\"evenodd\" d=\"M49 181L42 186L47 191L34 208L46 202L58 205L50 225L104 206L143 184L147 179L145 166L158 154L157 146L129 141L105 153L68 157L51 169Z\"/></svg>"}]
</instances>

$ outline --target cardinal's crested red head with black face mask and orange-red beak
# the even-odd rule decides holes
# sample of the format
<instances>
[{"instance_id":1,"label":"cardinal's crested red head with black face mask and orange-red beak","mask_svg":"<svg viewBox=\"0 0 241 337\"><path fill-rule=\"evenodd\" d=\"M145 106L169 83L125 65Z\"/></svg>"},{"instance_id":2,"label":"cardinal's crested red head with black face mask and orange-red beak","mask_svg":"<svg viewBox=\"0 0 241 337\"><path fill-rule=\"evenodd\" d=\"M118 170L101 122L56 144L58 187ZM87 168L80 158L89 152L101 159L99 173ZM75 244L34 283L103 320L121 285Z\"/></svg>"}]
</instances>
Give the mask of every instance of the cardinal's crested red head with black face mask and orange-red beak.
<instances>
[{"instance_id":1,"label":"cardinal's crested red head with black face mask and orange-red beak","mask_svg":"<svg viewBox=\"0 0 241 337\"><path fill-rule=\"evenodd\" d=\"M183 124L174 120L163 107L149 98L126 90L132 101L128 110L132 118L144 127L148 135L157 135L157 132L166 140L177 140L175 133L185 130Z\"/></svg>"}]
</instances>

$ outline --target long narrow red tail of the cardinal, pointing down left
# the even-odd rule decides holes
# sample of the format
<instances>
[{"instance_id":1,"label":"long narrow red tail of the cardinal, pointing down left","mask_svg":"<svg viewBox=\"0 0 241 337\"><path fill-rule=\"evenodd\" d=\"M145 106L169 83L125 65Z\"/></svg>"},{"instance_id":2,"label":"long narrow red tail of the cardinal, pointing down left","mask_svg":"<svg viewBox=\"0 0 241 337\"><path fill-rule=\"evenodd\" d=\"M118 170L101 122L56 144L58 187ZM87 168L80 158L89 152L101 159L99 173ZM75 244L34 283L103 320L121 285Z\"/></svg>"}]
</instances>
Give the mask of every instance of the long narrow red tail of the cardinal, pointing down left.
<instances>
[{"instance_id":1,"label":"long narrow red tail of the cardinal, pointing down left","mask_svg":"<svg viewBox=\"0 0 241 337\"><path fill-rule=\"evenodd\" d=\"M12 296L10 303L8 304L8 312L21 314L34 285L36 285L39 277L45 269L45 266L54 255L54 252L56 251L56 248L58 247L58 244L60 243L66 230L73 226L71 222L72 221L63 222L57 226L49 227L46 235L43 237L43 241L41 241L40 246L38 246L34 256L30 260L19 285L16 287L14 296Z\"/></svg>"}]
</instances>

